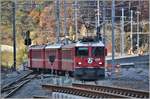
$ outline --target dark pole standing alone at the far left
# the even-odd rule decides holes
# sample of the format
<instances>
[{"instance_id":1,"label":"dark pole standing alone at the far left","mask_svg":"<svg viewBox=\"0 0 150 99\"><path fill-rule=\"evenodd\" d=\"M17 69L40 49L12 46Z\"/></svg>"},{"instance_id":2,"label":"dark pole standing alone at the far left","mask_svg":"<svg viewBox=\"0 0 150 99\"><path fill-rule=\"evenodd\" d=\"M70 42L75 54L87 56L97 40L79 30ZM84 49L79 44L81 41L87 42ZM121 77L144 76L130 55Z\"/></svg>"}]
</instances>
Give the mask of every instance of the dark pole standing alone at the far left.
<instances>
[{"instance_id":1,"label":"dark pole standing alone at the far left","mask_svg":"<svg viewBox=\"0 0 150 99\"><path fill-rule=\"evenodd\" d=\"M13 12L13 58L14 58L14 64L13 64L13 70L16 71L16 2L13 2L12 4L12 12Z\"/></svg>"}]
</instances>

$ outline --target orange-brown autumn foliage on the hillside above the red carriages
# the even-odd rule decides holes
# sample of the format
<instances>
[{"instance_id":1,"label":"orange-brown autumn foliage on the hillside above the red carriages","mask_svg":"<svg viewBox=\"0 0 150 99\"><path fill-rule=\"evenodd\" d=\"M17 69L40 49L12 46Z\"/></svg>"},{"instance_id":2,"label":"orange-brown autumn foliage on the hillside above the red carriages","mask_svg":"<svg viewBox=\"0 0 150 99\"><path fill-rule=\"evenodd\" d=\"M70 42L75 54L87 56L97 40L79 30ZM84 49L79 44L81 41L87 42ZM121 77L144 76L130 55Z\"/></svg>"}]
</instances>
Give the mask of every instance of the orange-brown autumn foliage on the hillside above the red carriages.
<instances>
[{"instance_id":1,"label":"orange-brown autumn foliage on the hillside above the red carriages","mask_svg":"<svg viewBox=\"0 0 150 99\"><path fill-rule=\"evenodd\" d=\"M61 4L61 10L60 10L60 17L64 17L64 10L63 10L63 4ZM54 42L56 39L56 14L55 14L55 5L51 4L49 6L44 7L44 9L41 12L38 12L36 10L32 10L30 12L30 16L38 22L38 25L40 29L38 29L38 35L37 38L33 41L34 44L44 44L48 42ZM73 25L73 20L72 20L72 9L71 6L67 7L67 17L70 18L67 20L67 30L69 30L69 27ZM63 28L64 25L64 20L61 20L60 22L61 26L61 35L63 34Z\"/></svg>"}]
</instances>

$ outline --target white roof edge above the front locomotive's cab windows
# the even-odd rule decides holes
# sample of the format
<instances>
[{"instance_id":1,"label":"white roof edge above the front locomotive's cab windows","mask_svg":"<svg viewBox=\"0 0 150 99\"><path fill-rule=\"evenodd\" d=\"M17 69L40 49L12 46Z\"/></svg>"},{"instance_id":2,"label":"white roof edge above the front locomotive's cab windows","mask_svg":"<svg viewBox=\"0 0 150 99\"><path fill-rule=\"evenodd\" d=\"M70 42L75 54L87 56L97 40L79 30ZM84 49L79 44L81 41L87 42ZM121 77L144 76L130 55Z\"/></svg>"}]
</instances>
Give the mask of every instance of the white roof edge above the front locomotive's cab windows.
<instances>
[{"instance_id":1,"label":"white roof edge above the front locomotive's cab windows","mask_svg":"<svg viewBox=\"0 0 150 99\"><path fill-rule=\"evenodd\" d=\"M79 46L104 46L104 44L102 43L102 41L99 41L99 42L77 42L76 45L77 47Z\"/></svg>"}]
</instances>

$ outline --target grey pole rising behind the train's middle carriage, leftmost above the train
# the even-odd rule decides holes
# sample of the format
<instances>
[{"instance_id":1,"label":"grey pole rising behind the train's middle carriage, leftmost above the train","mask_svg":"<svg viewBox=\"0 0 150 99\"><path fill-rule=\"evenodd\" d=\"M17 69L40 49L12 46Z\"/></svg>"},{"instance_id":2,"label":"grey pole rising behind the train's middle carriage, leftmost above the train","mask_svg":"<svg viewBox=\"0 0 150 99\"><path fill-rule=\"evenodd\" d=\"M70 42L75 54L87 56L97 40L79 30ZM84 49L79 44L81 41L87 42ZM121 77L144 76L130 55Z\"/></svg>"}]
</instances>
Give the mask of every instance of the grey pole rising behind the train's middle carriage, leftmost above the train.
<instances>
[{"instance_id":1,"label":"grey pole rising behind the train's middle carriage, leftmost above the train","mask_svg":"<svg viewBox=\"0 0 150 99\"><path fill-rule=\"evenodd\" d=\"M60 2L59 0L56 1L56 20L57 20L57 23L56 23L56 42L57 43L60 43L60 39L59 39L59 36L60 36Z\"/></svg>"}]
</instances>

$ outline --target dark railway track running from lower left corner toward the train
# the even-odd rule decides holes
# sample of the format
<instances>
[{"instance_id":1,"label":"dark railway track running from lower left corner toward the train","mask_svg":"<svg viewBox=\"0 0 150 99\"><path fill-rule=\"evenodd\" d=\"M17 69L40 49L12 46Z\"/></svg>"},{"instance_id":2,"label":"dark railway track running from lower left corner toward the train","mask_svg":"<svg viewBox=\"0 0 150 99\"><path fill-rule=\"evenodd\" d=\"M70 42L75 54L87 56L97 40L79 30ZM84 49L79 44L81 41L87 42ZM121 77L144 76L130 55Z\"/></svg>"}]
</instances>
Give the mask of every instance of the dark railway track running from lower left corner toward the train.
<instances>
[{"instance_id":1,"label":"dark railway track running from lower left corner toward the train","mask_svg":"<svg viewBox=\"0 0 150 99\"><path fill-rule=\"evenodd\" d=\"M22 76L17 81L14 81L14 82L9 83L9 84L5 85L4 87L2 87L2 89L1 89L1 96L3 98L11 97L22 86L24 86L25 84L27 84L28 82L30 82L32 79L34 79L37 76L36 74L34 74L34 75L31 75L31 74L32 74L32 72Z\"/></svg>"}]
</instances>

